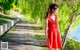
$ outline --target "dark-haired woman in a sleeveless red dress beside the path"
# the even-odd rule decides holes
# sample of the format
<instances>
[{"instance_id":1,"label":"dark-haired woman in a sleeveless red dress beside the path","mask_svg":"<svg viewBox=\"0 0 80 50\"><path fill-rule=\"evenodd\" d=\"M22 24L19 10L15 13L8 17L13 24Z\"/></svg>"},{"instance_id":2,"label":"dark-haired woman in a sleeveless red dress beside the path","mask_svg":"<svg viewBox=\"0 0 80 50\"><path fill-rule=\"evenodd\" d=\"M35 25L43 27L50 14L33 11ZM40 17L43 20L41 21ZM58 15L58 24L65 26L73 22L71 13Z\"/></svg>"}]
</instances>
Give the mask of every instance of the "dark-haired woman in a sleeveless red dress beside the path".
<instances>
[{"instance_id":1,"label":"dark-haired woman in a sleeveless red dress beside the path","mask_svg":"<svg viewBox=\"0 0 80 50\"><path fill-rule=\"evenodd\" d=\"M46 15L46 40L49 50L60 50L62 48L60 31L58 26L58 5L50 4Z\"/></svg>"}]
</instances>

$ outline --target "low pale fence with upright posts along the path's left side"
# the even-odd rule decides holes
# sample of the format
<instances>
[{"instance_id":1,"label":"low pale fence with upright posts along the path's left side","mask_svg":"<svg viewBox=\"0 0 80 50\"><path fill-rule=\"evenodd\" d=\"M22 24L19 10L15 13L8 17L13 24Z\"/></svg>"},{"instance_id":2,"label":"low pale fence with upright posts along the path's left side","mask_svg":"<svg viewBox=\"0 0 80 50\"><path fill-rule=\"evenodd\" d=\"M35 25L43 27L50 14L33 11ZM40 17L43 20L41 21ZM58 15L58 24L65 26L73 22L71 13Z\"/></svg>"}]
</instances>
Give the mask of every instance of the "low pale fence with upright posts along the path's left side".
<instances>
[{"instance_id":1,"label":"low pale fence with upright posts along the path's left side","mask_svg":"<svg viewBox=\"0 0 80 50\"><path fill-rule=\"evenodd\" d=\"M3 25L0 25L0 36L4 34L8 29L10 29L14 24L16 24L18 21L20 21L19 18L16 18L15 20L11 20L8 23L5 23Z\"/></svg>"}]
</instances>

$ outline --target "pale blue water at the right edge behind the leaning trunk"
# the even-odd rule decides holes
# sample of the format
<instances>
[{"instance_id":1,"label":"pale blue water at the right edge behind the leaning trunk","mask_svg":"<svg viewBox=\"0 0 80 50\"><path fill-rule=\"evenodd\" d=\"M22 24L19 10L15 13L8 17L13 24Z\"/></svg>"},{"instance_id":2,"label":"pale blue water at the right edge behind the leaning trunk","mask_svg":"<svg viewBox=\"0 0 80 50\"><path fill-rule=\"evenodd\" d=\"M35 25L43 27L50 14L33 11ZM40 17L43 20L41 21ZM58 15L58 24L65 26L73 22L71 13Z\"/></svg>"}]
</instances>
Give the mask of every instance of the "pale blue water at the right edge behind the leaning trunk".
<instances>
[{"instance_id":1,"label":"pale blue water at the right edge behind the leaning trunk","mask_svg":"<svg viewBox=\"0 0 80 50\"><path fill-rule=\"evenodd\" d=\"M80 42L80 25L75 30L69 32L67 37Z\"/></svg>"}]
</instances>

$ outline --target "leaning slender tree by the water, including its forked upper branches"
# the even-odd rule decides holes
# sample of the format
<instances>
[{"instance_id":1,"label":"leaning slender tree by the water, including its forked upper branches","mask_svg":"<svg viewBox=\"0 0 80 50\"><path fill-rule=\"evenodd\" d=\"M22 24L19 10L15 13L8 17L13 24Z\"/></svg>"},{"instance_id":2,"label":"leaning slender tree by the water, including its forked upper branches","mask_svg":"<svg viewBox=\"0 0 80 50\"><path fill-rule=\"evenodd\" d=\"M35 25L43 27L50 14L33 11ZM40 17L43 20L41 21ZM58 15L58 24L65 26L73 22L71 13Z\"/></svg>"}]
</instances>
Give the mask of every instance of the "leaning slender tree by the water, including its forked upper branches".
<instances>
[{"instance_id":1,"label":"leaning slender tree by the water, including its forked upper branches","mask_svg":"<svg viewBox=\"0 0 80 50\"><path fill-rule=\"evenodd\" d=\"M72 5L72 14L70 16L70 21L69 21L68 27L66 28L66 30L64 32L63 39L62 39L62 42L63 42L63 48L62 49L64 49L64 47L65 47L67 34L69 32L69 29L71 28L71 26L73 25L74 21L76 21L76 19L78 17L78 13L79 13L78 9L79 9L79 5L77 5L76 9L75 9L75 5Z\"/></svg>"}]
</instances>

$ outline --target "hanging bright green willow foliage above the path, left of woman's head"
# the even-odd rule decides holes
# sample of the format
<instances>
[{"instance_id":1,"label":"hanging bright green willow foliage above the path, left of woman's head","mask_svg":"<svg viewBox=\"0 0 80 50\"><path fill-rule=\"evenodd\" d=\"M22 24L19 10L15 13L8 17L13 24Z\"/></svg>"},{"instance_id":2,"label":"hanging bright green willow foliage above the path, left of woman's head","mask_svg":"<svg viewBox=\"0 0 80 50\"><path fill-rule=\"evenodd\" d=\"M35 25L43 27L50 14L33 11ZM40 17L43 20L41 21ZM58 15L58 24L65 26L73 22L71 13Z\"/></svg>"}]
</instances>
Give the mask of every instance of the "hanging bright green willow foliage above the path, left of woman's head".
<instances>
[{"instance_id":1,"label":"hanging bright green willow foliage above the path, left of woman's head","mask_svg":"<svg viewBox=\"0 0 80 50\"><path fill-rule=\"evenodd\" d=\"M34 21L40 18L42 21L52 0L18 0L19 12L30 14L30 18ZM26 16L28 18L28 16Z\"/></svg>"}]
</instances>

